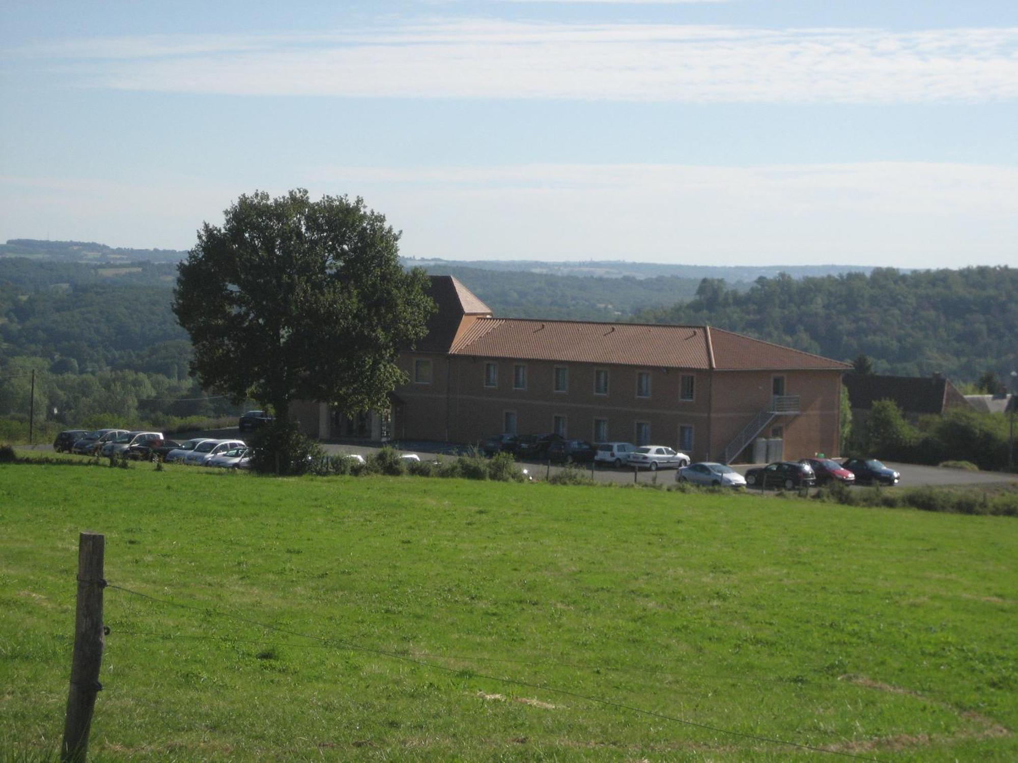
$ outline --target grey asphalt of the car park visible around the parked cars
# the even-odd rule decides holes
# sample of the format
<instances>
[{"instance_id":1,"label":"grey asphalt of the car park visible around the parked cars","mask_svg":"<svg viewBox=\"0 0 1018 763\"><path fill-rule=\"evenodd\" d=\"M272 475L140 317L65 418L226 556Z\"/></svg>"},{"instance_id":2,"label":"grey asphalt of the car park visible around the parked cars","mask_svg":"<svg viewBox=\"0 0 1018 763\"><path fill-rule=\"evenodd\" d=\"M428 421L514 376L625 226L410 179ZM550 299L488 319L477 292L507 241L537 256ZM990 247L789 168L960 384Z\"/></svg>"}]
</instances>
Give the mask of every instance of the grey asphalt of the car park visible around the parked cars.
<instances>
[{"instance_id":1,"label":"grey asphalt of the car park visible around the parked cars","mask_svg":"<svg viewBox=\"0 0 1018 763\"><path fill-rule=\"evenodd\" d=\"M243 435L238 433L237 427L235 426L227 429L211 429L199 432L188 432L186 434L178 434L174 438L188 439L190 437L203 436L217 437L220 439L234 437L243 439ZM323 443L321 445L326 453L333 455L341 453L358 453L362 456L366 456L367 454L375 453L379 450L378 447L366 446L360 443ZM400 445L406 446L405 448L401 447L398 449L401 453L415 453L422 459L444 460L455 457L452 454L442 452L444 450L448 450L442 443L403 443ZM33 450L52 451L53 447L51 445L41 445L36 446ZM980 485L989 486L1008 482L1018 482L1018 474L1009 474L1007 472L970 472L964 469L948 469L946 467L922 466L919 464L897 464L890 461L885 461L884 464L885 466L901 473L900 485L903 487L918 485L965 485L976 487ZM589 464L582 464L580 466L584 468L584 471L588 476L591 476L599 482L617 482L619 484L633 482L634 480L637 482L649 483L654 482L656 477L659 483L671 484L675 481L676 473L675 469L661 469L658 472L640 470L634 474L631 467L615 469L611 466L600 465L596 466L591 471ZM740 474L745 474L747 469L752 469L754 466L766 466L766 464L735 464L732 468ZM556 465L549 466L547 461L525 461L520 462L520 468L527 469L529 473L538 479L545 479L549 475L555 474L565 467Z\"/></svg>"}]
</instances>

